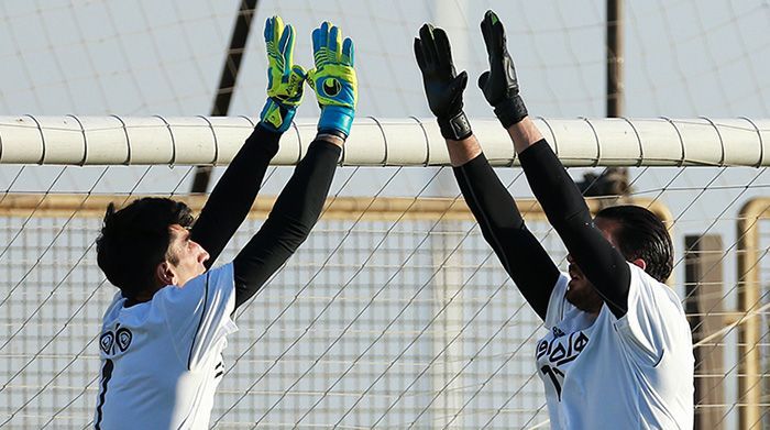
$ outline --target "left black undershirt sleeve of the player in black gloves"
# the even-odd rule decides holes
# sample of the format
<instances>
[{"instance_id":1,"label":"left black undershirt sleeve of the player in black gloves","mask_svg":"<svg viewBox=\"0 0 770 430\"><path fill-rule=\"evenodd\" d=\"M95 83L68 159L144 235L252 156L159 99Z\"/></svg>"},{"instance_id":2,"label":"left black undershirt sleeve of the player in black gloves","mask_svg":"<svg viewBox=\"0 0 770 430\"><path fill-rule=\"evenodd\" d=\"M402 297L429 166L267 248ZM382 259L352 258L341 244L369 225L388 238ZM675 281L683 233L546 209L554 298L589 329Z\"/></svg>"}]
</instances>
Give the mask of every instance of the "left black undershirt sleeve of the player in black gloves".
<instances>
[{"instance_id":1,"label":"left black undershirt sleeve of the player in black gloves","mask_svg":"<svg viewBox=\"0 0 770 430\"><path fill-rule=\"evenodd\" d=\"M559 269L525 225L514 198L484 154L453 170L484 239L524 298L540 318L546 319Z\"/></svg>"}]
</instances>

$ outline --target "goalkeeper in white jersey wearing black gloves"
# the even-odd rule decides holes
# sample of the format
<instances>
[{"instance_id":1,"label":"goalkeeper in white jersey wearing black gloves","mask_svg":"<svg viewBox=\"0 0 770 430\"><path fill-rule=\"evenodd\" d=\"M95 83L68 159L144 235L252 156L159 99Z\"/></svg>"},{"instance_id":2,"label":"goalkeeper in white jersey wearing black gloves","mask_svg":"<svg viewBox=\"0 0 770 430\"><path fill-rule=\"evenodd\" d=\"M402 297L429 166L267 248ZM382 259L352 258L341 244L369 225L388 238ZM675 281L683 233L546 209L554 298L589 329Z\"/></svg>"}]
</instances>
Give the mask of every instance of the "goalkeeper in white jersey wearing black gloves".
<instances>
[{"instance_id":1,"label":"goalkeeper in white jersey wearing black gloves","mask_svg":"<svg viewBox=\"0 0 770 430\"><path fill-rule=\"evenodd\" d=\"M490 11L481 26L490 70L479 86L569 251L569 273L559 273L527 230L474 137L462 111L468 75L455 74L443 30L420 29L415 55L465 201L548 329L534 353L551 427L692 428L692 338L679 298L663 284L673 265L666 227L635 206L604 209L591 219L578 187L528 117L503 24Z\"/></svg>"}]
</instances>

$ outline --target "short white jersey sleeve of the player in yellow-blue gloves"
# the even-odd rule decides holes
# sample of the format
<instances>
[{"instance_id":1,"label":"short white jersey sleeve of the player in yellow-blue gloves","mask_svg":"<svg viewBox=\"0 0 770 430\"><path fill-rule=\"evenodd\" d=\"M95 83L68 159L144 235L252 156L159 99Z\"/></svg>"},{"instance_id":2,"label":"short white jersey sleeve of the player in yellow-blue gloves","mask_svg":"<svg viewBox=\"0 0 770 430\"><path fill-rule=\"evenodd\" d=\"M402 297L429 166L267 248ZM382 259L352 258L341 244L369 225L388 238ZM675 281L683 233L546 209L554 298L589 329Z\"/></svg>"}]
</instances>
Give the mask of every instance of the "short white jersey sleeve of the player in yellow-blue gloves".
<instances>
[{"instance_id":1,"label":"short white jersey sleeve of the player in yellow-blue gloves","mask_svg":"<svg viewBox=\"0 0 770 430\"><path fill-rule=\"evenodd\" d=\"M179 360L193 371L212 351L227 345L226 337L238 331L232 320L235 286L232 263L208 271L185 284L158 291L158 306L172 332Z\"/></svg>"}]
</instances>

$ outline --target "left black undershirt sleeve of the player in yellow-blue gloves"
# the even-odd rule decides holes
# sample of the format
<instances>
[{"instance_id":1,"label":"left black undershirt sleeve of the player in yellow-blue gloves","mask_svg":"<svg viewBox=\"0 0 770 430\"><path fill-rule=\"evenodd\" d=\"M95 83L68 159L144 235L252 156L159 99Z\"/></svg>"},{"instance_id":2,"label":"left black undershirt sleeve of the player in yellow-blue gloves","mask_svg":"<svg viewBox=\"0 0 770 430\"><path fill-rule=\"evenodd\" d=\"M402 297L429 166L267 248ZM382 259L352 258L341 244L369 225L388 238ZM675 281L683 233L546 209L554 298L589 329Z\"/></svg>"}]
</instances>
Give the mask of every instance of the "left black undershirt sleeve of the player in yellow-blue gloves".
<instances>
[{"instance_id":1,"label":"left black undershirt sleeve of the player in yellow-blue gloves","mask_svg":"<svg viewBox=\"0 0 770 430\"><path fill-rule=\"evenodd\" d=\"M278 152L280 133L254 128L222 174L193 225L190 238L209 253L210 268L249 214L271 159Z\"/></svg>"}]
</instances>

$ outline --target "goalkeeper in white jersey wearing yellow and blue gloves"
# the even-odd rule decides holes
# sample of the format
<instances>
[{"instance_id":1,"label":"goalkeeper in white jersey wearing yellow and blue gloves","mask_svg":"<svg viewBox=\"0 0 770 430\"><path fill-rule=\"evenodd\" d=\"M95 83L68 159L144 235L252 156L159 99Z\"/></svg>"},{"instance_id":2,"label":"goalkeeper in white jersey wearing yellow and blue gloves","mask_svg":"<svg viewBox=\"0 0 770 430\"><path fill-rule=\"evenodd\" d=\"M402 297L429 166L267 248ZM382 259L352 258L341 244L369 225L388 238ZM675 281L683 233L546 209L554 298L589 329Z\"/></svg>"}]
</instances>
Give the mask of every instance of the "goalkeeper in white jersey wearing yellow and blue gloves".
<instances>
[{"instance_id":1,"label":"goalkeeper in white jersey wearing yellow and blue gloves","mask_svg":"<svg viewBox=\"0 0 770 430\"><path fill-rule=\"evenodd\" d=\"M232 320L305 241L320 214L358 99L353 43L323 23L316 67L293 60L295 32L267 20L267 102L261 121L194 223L183 202L110 205L97 240L99 267L120 288L99 338L97 429L205 429L226 371ZM211 265L243 222L308 80L321 107L318 134L260 231L230 263Z\"/></svg>"}]
</instances>

